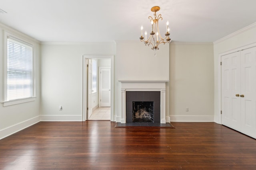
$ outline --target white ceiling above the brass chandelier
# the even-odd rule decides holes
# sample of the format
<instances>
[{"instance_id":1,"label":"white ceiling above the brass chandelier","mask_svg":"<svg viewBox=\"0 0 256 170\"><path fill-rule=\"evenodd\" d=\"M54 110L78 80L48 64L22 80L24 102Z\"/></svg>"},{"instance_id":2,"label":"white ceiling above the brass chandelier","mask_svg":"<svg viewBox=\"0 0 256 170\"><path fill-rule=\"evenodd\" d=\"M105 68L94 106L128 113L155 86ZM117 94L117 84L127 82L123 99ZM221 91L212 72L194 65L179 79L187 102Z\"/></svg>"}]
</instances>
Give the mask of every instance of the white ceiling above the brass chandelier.
<instances>
[{"instance_id":1,"label":"white ceiling above the brass chandelier","mask_svg":"<svg viewBox=\"0 0 256 170\"><path fill-rule=\"evenodd\" d=\"M256 22L256 0L0 0L0 22L42 42L139 41L152 6L173 41L214 42Z\"/></svg>"}]
</instances>

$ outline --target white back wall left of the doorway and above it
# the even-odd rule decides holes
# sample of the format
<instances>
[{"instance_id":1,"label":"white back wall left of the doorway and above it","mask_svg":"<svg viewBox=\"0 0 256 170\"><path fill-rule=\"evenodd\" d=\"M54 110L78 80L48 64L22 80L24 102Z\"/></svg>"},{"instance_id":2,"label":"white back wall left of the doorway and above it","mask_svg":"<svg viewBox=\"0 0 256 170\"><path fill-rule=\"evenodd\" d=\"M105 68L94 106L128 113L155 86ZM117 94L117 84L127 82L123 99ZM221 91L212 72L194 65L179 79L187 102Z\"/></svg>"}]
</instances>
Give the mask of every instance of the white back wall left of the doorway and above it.
<instances>
[{"instance_id":1,"label":"white back wall left of the doorway and above it","mask_svg":"<svg viewBox=\"0 0 256 170\"><path fill-rule=\"evenodd\" d=\"M43 121L82 120L82 56L114 55L112 43L43 43L41 59ZM62 111L58 107L62 105Z\"/></svg>"}]
</instances>

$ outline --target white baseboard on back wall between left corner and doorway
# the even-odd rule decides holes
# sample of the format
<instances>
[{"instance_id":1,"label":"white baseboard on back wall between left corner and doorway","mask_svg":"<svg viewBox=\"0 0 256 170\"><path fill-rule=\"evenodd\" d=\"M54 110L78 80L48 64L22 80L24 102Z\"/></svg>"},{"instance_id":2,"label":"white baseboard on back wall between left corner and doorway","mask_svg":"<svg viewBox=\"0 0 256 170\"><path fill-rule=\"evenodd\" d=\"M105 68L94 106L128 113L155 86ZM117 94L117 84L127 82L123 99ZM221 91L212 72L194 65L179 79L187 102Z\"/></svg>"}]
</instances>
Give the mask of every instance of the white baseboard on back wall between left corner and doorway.
<instances>
[{"instance_id":1,"label":"white baseboard on back wall between left corner and doorway","mask_svg":"<svg viewBox=\"0 0 256 170\"><path fill-rule=\"evenodd\" d=\"M82 115L41 115L41 121L82 121Z\"/></svg>"}]
</instances>

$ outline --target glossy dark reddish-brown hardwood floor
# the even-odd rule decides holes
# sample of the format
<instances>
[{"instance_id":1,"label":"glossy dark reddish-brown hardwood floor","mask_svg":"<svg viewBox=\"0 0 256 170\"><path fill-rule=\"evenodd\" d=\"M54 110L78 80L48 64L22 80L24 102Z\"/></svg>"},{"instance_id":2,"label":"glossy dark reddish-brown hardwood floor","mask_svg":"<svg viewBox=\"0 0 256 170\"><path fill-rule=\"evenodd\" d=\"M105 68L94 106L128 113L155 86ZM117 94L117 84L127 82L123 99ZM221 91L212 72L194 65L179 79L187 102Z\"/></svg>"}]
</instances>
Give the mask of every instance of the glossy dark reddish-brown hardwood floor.
<instances>
[{"instance_id":1,"label":"glossy dark reddish-brown hardwood floor","mask_svg":"<svg viewBox=\"0 0 256 170\"><path fill-rule=\"evenodd\" d=\"M216 123L172 125L39 122L0 140L0 169L256 169L255 139Z\"/></svg>"}]
</instances>

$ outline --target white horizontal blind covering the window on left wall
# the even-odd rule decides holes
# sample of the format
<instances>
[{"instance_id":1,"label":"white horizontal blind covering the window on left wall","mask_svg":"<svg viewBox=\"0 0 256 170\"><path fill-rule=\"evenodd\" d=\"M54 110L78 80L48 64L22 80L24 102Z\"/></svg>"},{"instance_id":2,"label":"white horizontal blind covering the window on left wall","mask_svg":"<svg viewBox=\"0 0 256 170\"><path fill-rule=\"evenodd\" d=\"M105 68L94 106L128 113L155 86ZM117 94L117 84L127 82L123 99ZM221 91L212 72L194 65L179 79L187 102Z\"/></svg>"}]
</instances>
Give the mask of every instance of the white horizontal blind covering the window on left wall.
<instances>
[{"instance_id":1,"label":"white horizontal blind covering the window on left wall","mask_svg":"<svg viewBox=\"0 0 256 170\"><path fill-rule=\"evenodd\" d=\"M7 39L6 100L33 96L33 47Z\"/></svg>"}]
</instances>

